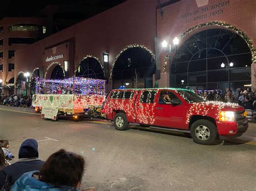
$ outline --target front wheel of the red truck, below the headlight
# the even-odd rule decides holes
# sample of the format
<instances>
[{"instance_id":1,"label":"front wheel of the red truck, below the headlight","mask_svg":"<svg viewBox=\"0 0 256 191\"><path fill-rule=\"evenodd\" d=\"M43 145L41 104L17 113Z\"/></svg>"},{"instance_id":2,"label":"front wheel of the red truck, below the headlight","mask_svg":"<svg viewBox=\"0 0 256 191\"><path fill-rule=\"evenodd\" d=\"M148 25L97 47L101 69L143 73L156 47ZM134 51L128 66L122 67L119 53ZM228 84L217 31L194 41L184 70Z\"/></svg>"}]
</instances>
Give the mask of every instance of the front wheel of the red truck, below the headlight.
<instances>
[{"instance_id":1,"label":"front wheel of the red truck, below the headlight","mask_svg":"<svg viewBox=\"0 0 256 191\"><path fill-rule=\"evenodd\" d=\"M216 126L206 119L194 122L191 125L190 134L195 143L202 145L212 145L218 138Z\"/></svg>"}]
</instances>

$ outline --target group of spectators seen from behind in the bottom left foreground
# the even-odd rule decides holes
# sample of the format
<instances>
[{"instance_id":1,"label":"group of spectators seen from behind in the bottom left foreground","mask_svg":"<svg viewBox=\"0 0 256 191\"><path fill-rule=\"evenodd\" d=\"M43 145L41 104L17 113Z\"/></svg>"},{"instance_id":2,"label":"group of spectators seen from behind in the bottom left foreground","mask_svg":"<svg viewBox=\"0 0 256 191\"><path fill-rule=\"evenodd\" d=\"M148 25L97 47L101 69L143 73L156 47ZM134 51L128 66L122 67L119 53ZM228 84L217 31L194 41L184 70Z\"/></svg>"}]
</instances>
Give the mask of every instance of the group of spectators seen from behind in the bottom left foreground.
<instances>
[{"instance_id":1,"label":"group of spectators seen from behind in the bottom left foreground","mask_svg":"<svg viewBox=\"0 0 256 191\"><path fill-rule=\"evenodd\" d=\"M60 149L46 161L38 157L35 139L26 139L21 144L18 161L11 165L1 161L3 150L0 148L0 189L95 190L94 187L81 189L85 168L85 160L81 155Z\"/></svg>"}]
</instances>

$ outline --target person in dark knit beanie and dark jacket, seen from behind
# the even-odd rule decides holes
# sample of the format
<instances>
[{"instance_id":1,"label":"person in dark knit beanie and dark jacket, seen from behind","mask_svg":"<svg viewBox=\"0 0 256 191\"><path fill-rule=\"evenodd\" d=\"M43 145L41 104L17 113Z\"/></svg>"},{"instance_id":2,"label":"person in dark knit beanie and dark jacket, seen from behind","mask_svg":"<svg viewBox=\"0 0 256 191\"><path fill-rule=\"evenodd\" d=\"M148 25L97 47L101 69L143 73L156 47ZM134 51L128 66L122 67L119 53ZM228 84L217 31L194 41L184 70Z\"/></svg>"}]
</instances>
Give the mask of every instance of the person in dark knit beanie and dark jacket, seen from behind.
<instances>
[{"instance_id":1,"label":"person in dark knit beanie and dark jacket, seen from behind","mask_svg":"<svg viewBox=\"0 0 256 191\"><path fill-rule=\"evenodd\" d=\"M44 161L38 159L38 145L35 139L26 139L21 144L18 158L17 162L0 171L0 188L4 186L6 176L9 178L10 187L22 174L39 170L44 164Z\"/></svg>"}]
</instances>

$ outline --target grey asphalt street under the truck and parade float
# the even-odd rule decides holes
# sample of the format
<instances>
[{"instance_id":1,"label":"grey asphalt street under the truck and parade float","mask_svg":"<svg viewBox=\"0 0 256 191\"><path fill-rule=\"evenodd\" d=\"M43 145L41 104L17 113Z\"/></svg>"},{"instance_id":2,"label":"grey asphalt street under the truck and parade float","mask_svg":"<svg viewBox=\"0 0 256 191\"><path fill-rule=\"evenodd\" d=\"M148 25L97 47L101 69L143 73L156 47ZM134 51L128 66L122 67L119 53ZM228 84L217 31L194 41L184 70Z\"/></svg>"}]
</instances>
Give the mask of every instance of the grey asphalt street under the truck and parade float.
<instances>
[{"instance_id":1,"label":"grey asphalt street under the truck and parade float","mask_svg":"<svg viewBox=\"0 0 256 191\"><path fill-rule=\"evenodd\" d=\"M14 155L27 138L38 141L43 160L60 148L81 154L82 186L97 190L255 190L255 137L250 124L242 137L205 146L183 132L134 125L117 131L104 120L52 122L29 109L0 107L0 138L9 139Z\"/></svg>"}]
</instances>

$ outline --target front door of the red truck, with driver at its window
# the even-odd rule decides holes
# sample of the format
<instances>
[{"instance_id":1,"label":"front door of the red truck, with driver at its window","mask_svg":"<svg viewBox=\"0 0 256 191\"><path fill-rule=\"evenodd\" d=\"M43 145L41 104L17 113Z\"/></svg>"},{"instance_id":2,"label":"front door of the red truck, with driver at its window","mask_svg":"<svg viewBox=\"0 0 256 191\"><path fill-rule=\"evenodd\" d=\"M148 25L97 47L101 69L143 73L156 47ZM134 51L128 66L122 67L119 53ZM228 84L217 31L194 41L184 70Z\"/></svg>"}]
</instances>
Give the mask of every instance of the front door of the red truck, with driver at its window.
<instances>
[{"instance_id":1,"label":"front door of the red truck, with driver at its window","mask_svg":"<svg viewBox=\"0 0 256 191\"><path fill-rule=\"evenodd\" d=\"M159 90L154 110L156 117L154 124L167 128L185 129L187 112L184 105L172 91Z\"/></svg>"}]
</instances>

